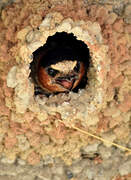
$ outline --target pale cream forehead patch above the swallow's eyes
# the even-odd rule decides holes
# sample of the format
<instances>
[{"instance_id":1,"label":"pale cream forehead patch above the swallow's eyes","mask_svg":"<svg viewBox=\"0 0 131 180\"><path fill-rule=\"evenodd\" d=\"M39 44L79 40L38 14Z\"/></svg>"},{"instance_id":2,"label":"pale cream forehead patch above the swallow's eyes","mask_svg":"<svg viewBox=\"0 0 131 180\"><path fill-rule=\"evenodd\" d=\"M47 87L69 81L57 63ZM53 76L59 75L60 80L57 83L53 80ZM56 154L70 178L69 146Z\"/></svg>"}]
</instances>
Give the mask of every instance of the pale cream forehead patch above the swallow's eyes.
<instances>
[{"instance_id":1,"label":"pale cream forehead patch above the swallow's eyes","mask_svg":"<svg viewBox=\"0 0 131 180\"><path fill-rule=\"evenodd\" d=\"M58 71L69 72L74 69L76 64L77 64L76 60L75 61L64 60L62 62L58 62L56 64L51 65L51 68Z\"/></svg>"}]
</instances>

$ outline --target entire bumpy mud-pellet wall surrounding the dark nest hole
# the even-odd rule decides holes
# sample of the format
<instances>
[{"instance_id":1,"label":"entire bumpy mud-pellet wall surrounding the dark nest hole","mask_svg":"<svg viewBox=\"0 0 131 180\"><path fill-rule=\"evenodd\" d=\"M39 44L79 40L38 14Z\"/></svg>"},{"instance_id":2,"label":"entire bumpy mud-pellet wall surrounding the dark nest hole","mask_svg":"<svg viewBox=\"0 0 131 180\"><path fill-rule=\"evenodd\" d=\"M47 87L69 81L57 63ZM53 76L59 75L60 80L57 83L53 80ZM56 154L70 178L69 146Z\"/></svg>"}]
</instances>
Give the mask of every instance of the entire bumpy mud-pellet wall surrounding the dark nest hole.
<instances>
[{"instance_id":1,"label":"entire bumpy mud-pellet wall surrounding the dark nest hole","mask_svg":"<svg viewBox=\"0 0 131 180\"><path fill-rule=\"evenodd\" d=\"M130 12L129 0L23 0L1 9L0 179L131 179L129 152L72 128L131 148ZM58 31L88 45L89 85L35 98L32 52Z\"/></svg>"}]
</instances>

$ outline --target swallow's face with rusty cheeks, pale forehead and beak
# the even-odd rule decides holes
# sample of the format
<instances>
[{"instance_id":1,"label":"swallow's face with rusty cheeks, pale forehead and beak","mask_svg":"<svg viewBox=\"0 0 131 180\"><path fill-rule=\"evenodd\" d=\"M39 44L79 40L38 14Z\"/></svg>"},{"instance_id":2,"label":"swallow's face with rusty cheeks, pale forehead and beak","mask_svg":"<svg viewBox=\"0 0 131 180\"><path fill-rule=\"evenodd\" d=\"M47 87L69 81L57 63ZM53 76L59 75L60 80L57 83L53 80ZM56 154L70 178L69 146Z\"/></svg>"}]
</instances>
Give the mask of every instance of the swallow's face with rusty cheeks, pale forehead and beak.
<instances>
[{"instance_id":1,"label":"swallow's face with rusty cheeks, pale forehead and beak","mask_svg":"<svg viewBox=\"0 0 131 180\"><path fill-rule=\"evenodd\" d=\"M39 67L38 81L50 93L72 91L85 75L84 64L77 60L64 60L46 68Z\"/></svg>"}]
</instances>

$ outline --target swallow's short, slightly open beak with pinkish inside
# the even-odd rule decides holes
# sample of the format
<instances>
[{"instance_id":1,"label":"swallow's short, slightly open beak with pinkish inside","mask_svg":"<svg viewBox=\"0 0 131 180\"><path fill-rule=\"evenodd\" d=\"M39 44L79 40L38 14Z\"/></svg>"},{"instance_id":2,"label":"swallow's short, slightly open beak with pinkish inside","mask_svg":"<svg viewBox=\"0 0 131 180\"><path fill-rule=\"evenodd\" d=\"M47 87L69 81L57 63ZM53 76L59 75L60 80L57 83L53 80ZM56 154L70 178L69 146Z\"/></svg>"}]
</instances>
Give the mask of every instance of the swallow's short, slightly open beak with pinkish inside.
<instances>
[{"instance_id":1,"label":"swallow's short, slightly open beak with pinkish inside","mask_svg":"<svg viewBox=\"0 0 131 180\"><path fill-rule=\"evenodd\" d=\"M75 76L58 77L56 82L63 86L65 89L71 90L74 82L76 81Z\"/></svg>"}]
</instances>

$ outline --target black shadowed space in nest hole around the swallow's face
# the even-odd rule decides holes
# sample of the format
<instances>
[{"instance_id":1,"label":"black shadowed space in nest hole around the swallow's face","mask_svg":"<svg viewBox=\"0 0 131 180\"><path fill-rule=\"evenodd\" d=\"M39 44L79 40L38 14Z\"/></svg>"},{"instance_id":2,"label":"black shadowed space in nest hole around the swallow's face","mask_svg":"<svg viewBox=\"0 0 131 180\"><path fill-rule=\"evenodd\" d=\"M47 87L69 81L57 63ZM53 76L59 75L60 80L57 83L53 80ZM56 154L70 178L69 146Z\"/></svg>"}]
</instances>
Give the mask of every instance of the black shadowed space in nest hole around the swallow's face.
<instances>
[{"instance_id":1,"label":"black shadowed space in nest hole around the swallow's face","mask_svg":"<svg viewBox=\"0 0 131 180\"><path fill-rule=\"evenodd\" d=\"M84 89L88 82L87 71L90 65L90 52L87 45L77 40L73 33L56 32L47 38L46 43L33 52L33 61L30 63L30 77L34 83L34 95L50 96L50 93L43 89L38 80L38 68L41 63L44 68L65 59L77 60L84 63L85 75L79 85L72 91L77 93L79 89ZM67 92L66 92L67 93ZM55 92L54 94L59 94Z\"/></svg>"}]
</instances>

